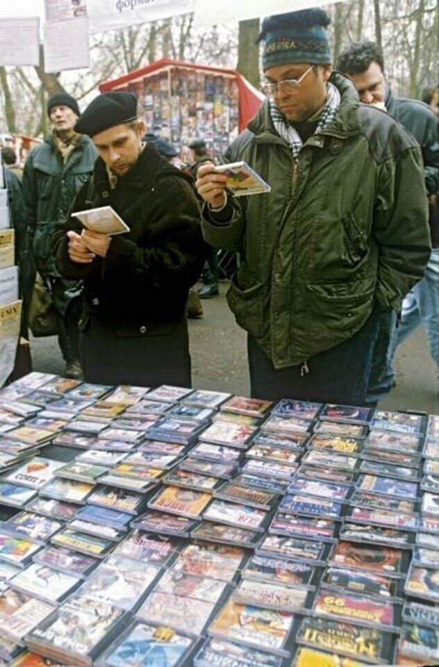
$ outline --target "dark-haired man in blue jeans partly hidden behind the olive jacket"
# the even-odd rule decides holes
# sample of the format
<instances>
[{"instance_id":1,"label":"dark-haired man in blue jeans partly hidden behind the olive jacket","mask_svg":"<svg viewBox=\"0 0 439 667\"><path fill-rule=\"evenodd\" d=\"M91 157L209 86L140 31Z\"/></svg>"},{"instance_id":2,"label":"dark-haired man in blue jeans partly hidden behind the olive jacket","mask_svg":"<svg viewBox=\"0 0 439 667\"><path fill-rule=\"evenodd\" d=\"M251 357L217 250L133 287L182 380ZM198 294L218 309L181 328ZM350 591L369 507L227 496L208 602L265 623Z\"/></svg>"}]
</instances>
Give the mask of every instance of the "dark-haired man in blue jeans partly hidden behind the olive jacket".
<instances>
[{"instance_id":1,"label":"dark-haired man in blue jeans partly hidden behind the olive jacket","mask_svg":"<svg viewBox=\"0 0 439 667\"><path fill-rule=\"evenodd\" d=\"M374 347L372 371L367 388L367 402L374 406L392 387L395 349L415 329L424 324L433 362L439 370L439 229L434 215L439 191L438 119L433 110L417 99L396 97L384 74L383 54L374 42L356 42L338 58L338 69L354 83L363 104L387 111L408 130L421 147L424 161L426 194L430 205L430 230L433 250L424 277L406 295L401 322L396 327L396 313L384 313Z\"/></svg>"}]
</instances>

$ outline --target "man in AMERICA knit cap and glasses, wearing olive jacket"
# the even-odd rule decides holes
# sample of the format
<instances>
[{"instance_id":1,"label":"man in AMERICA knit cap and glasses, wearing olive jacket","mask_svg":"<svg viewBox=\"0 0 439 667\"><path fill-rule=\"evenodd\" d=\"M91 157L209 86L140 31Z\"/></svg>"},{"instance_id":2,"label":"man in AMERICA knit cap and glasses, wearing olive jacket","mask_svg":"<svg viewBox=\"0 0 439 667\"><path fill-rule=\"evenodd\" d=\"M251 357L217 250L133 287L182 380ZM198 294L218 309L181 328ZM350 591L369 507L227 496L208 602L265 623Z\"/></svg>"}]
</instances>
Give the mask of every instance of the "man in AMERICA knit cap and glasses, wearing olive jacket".
<instances>
[{"instance_id":1,"label":"man in AMERICA knit cap and glasses, wearing olive jacket","mask_svg":"<svg viewBox=\"0 0 439 667\"><path fill-rule=\"evenodd\" d=\"M422 156L388 114L332 72L320 9L267 17L267 99L224 162L270 183L233 197L201 166L208 243L238 250L228 301L248 333L251 395L361 405L381 311L398 310L430 254Z\"/></svg>"}]
</instances>

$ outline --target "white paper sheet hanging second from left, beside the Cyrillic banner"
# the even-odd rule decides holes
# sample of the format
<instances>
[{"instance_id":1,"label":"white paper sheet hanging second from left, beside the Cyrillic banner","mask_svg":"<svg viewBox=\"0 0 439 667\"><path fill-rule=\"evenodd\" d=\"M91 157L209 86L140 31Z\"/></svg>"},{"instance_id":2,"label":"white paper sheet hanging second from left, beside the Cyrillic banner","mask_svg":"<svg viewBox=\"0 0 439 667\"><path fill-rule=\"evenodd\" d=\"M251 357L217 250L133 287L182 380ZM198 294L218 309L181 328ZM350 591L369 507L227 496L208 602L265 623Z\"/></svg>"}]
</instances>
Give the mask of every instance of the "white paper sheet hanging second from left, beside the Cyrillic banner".
<instances>
[{"instance_id":1,"label":"white paper sheet hanging second from left, beside the Cyrillic banner","mask_svg":"<svg viewBox=\"0 0 439 667\"><path fill-rule=\"evenodd\" d=\"M44 72L90 67L88 17L44 25Z\"/></svg>"}]
</instances>

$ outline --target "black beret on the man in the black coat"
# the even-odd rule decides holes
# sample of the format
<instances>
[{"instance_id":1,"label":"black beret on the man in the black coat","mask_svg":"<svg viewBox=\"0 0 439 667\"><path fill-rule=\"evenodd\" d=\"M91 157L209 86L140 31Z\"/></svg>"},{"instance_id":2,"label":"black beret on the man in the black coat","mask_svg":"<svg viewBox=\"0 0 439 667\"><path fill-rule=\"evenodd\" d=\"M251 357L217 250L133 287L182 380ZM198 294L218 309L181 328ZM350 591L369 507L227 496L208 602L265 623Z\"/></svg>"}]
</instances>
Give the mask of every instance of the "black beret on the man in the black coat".
<instances>
[{"instance_id":1,"label":"black beret on the man in the black coat","mask_svg":"<svg viewBox=\"0 0 439 667\"><path fill-rule=\"evenodd\" d=\"M105 92L94 98L74 126L75 132L89 137L109 127L137 118L137 97L133 92Z\"/></svg>"}]
</instances>

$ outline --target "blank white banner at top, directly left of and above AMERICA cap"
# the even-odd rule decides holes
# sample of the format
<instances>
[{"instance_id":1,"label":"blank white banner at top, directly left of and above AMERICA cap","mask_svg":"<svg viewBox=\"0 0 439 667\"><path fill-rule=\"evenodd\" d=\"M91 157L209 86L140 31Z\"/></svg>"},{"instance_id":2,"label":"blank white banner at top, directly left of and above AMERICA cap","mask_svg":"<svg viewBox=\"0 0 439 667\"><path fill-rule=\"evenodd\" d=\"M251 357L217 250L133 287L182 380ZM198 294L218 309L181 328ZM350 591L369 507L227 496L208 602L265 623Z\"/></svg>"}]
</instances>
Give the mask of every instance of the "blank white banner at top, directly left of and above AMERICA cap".
<instances>
[{"instance_id":1,"label":"blank white banner at top, directly left of and above AMERICA cap","mask_svg":"<svg viewBox=\"0 0 439 667\"><path fill-rule=\"evenodd\" d=\"M211 3L194 0L195 26L211 26L217 23L234 23L246 19L295 12L308 7L333 4L334 0L221 0ZM351 0L347 0L351 1Z\"/></svg>"}]
</instances>

